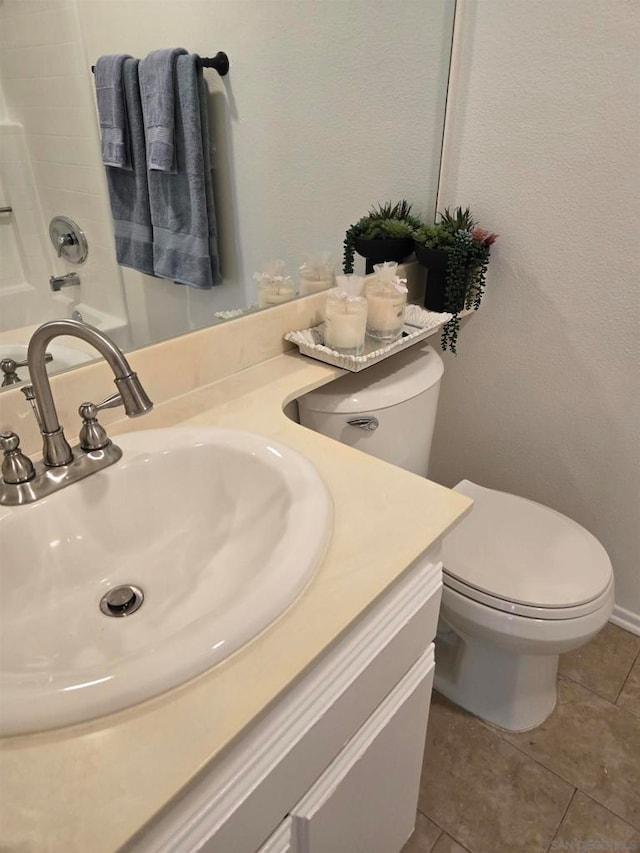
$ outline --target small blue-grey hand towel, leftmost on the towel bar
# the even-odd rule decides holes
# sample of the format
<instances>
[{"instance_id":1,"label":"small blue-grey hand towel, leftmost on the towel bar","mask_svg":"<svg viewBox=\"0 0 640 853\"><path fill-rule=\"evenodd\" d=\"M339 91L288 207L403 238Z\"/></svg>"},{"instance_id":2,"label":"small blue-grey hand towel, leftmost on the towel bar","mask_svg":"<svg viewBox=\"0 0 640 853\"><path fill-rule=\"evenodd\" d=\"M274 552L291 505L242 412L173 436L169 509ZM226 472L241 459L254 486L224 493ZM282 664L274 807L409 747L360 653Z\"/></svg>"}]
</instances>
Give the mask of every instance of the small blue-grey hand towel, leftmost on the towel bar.
<instances>
[{"instance_id":1,"label":"small blue-grey hand towel, leftmost on the towel bar","mask_svg":"<svg viewBox=\"0 0 640 853\"><path fill-rule=\"evenodd\" d=\"M94 81L105 166L130 169L129 131L124 106L122 67L127 54L101 56L96 62Z\"/></svg>"}]
</instances>

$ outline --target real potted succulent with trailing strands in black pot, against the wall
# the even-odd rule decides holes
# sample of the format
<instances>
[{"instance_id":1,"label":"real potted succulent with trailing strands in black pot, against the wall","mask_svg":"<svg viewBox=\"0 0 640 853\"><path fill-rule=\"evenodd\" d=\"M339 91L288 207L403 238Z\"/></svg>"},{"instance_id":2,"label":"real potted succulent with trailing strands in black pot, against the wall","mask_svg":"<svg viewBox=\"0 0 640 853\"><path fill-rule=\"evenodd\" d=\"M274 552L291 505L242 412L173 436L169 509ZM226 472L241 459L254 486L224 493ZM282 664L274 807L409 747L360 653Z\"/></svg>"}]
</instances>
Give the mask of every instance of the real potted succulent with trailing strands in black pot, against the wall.
<instances>
[{"instance_id":1,"label":"real potted succulent with trailing strands in black pot, against the wall","mask_svg":"<svg viewBox=\"0 0 640 853\"><path fill-rule=\"evenodd\" d=\"M460 311L480 307L491 246L497 234L480 228L469 208L445 208L435 225L414 232L416 258L427 268L425 308L453 314L442 330L442 349L456 352Z\"/></svg>"}]
</instances>

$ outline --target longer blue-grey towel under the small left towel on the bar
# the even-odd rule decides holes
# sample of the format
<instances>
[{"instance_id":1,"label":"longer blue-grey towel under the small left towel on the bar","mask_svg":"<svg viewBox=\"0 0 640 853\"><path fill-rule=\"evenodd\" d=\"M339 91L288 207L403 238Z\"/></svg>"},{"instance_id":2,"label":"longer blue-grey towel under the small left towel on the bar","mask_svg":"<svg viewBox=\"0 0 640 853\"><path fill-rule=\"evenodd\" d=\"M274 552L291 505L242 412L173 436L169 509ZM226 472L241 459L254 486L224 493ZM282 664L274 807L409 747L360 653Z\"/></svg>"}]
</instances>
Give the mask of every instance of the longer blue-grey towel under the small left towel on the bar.
<instances>
[{"instance_id":1,"label":"longer blue-grey towel under the small left towel on the bar","mask_svg":"<svg viewBox=\"0 0 640 853\"><path fill-rule=\"evenodd\" d=\"M122 72L129 125L130 171L108 166L106 173L118 263L153 275L153 238L138 65L137 59L126 59Z\"/></svg>"}]
</instances>

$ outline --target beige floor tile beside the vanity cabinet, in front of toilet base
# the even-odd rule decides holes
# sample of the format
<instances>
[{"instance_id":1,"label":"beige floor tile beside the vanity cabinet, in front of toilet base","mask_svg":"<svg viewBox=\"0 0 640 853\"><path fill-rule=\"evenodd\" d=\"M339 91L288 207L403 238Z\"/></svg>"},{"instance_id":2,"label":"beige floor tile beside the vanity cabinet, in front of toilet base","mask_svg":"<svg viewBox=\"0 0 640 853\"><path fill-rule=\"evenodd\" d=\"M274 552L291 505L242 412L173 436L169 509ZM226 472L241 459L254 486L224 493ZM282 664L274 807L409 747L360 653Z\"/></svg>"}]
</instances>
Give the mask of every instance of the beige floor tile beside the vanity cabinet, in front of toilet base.
<instances>
[{"instance_id":1,"label":"beige floor tile beside the vanity cabinet, in front of toilet base","mask_svg":"<svg viewBox=\"0 0 640 853\"><path fill-rule=\"evenodd\" d=\"M419 807L471 853L546 851L573 787L434 693Z\"/></svg>"}]
</instances>

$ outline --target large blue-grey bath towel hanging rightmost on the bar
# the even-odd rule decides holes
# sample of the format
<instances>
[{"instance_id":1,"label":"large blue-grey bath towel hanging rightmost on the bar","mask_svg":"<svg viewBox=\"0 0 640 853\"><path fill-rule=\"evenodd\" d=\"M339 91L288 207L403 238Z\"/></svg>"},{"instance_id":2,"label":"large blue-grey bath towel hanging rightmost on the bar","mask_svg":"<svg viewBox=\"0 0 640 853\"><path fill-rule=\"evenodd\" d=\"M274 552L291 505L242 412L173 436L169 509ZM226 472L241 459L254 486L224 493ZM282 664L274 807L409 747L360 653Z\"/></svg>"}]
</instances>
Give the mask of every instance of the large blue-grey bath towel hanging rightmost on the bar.
<instances>
[{"instance_id":1,"label":"large blue-grey bath towel hanging rightmost on the bar","mask_svg":"<svg viewBox=\"0 0 640 853\"><path fill-rule=\"evenodd\" d=\"M177 58L176 82L177 172L148 173L153 267L179 284L210 288L221 278L204 81L195 54Z\"/></svg>"}]
</instances>

